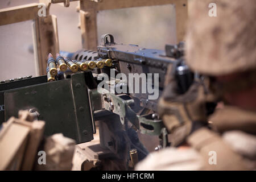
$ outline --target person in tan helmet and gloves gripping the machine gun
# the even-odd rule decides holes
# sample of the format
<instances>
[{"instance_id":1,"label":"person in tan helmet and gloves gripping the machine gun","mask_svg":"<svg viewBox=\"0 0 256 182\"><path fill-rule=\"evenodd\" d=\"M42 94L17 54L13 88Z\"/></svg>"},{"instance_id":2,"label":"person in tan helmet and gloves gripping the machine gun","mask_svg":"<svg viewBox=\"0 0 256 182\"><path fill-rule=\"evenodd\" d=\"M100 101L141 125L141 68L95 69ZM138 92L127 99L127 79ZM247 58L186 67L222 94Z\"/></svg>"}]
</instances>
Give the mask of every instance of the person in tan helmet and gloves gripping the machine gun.
<instances>
[{"instance_id":1,"label":"person in tan helmet and gloves gripping the machine gun","mask_svg":"<svg viewBox=\"0 0 256 182\"><path fill-rule=\"evenodd\" d=\"M217 17L208 16L209 3L216 3ZM170 66L159 115L171 146L137 170L256 169L255 17L254 0L191 2L185 58L205 77L180 94ZM207 113L213 101L216 109Z\"/></svg>"}]
</instances>

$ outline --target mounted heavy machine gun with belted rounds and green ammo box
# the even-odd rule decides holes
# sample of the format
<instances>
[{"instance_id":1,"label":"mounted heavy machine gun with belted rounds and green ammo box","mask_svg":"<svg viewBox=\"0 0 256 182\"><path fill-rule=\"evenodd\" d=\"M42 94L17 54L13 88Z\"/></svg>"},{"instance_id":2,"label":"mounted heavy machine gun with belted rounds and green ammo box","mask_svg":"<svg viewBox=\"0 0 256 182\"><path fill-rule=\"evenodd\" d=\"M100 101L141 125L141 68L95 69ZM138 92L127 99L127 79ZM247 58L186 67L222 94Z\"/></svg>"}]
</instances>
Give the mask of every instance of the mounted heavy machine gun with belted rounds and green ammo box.
<instances>
[{"instance_id":1,"label":"mounted heavy machine gun with belted rounds and green ammo box","mask_svg":"<svg viewBox=\"0 0 256 182\"><path fill-rule=\"evenodd\" d=\"M161 147L169 145L158 117L158 98L169 64L176 65L180 92L192 83L193 73L184 64L183 51L183 43L166 45L161 51L117 44L112 35L103 35L97 51L60 52L56 60L50 56L45 76L2 81L0 120L30 110L46 121L46 135L63 133L77 143L93 140L94 121L100 121L102 148L127 160L129 151L136 149L141 160L148 151L137 132L159 136ZM138 80L140 84L134 84Z\"/></svg>"}]
</instances>

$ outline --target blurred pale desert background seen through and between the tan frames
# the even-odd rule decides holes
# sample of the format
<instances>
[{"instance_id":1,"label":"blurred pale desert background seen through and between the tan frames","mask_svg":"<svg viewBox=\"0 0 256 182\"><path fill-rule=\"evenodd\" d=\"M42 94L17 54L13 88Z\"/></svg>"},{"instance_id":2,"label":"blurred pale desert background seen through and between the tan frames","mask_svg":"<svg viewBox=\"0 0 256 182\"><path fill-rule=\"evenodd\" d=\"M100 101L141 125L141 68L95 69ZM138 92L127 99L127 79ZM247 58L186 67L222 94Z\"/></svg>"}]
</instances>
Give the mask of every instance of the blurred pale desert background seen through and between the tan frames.
<instances>
[{"instance_id":1,"label":"blurred pale desert background seen through and between the tan frames","mask_svg":"<svg viewBox=\"0 0 256 182\"><path fill-rule=\"evenodd\" d=\"M118 1L118 0L117 0ZM38 1L1 0L0 9ZM53 4L50 14L57 16L61 51L75 52L82 48L78 2L69 7ZM1 17L0 17L1 18ZM115 42L138 44L145 48L164 49L176 43L175 7L172 5L104 10L97 14L98 43L102 34L114 35ZM32 21L0 26L0 80L35 75Z\"/></svg>"}]
</instances>

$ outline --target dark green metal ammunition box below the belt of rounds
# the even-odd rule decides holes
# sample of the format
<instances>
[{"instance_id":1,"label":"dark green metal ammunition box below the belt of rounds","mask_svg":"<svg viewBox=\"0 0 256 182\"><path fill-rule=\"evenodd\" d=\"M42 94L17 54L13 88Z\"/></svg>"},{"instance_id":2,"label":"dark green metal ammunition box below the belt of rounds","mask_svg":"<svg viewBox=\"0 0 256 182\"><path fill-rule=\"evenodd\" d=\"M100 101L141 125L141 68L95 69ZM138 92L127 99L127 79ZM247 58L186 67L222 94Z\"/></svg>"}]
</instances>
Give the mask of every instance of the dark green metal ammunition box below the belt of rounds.
<instances>
[{"instance_id":1,"label":"dark green metal ammunition box below the belt of rounds","mask_svg":"<svg viewBox=\"0 0 256 182\"><path fill-rule=\"evenodd\" d=\"M85 73L69 79L8 90L5 97L6 120L18 117L18 111L35 108L39 119L46 121L46 135L63 133L77 143L93 139Z\"/></svg>"}]
</instances>

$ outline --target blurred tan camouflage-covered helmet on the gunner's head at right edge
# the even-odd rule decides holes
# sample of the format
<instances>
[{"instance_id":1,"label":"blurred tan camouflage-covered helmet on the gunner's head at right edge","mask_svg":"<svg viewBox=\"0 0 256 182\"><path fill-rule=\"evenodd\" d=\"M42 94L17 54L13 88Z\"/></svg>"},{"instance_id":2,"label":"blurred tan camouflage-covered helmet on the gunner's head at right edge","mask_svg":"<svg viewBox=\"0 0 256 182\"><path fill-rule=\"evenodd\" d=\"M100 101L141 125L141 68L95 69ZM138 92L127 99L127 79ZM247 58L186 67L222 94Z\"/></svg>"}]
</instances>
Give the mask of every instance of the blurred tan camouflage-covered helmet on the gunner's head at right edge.
<instances>
[{"instance_id":1,"label":"blurred tan camouflage-covered helmet on the gunner's head at right edge","mask_svg":"<svg viewBox=\"0 0 256 182\"><path fill-rule=\"evenodd\" d=\"M216 4L217 16L209 16L210 3ZM255 17L255 0L193 0L186 38L189 67L212 76L255 70Z\"/></svg>"}]
</instances>

